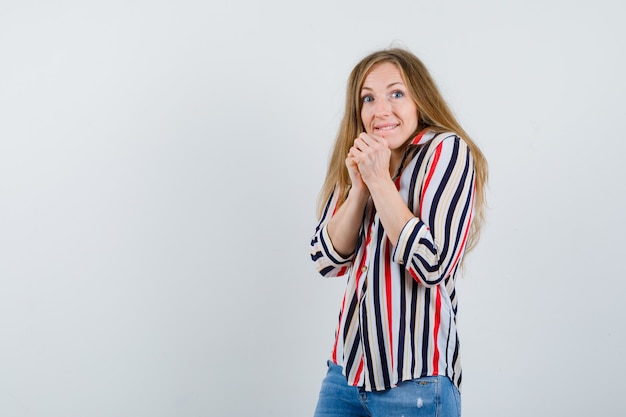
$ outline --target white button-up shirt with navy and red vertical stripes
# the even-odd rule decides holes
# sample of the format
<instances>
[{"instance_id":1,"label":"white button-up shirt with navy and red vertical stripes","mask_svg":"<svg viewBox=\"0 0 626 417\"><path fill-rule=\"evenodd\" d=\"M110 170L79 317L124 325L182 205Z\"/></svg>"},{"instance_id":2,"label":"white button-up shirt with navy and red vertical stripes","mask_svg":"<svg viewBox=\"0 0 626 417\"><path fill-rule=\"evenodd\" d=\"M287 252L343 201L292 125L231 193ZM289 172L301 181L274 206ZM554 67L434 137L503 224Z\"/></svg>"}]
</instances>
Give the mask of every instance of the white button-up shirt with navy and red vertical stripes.
<instances>
[{"instance_id":1,"label":"white button-up shirt with navy and red vertical stripes","mask_svg":"<svg viewBox=\"0 0 626 417\"><path fill-rule=\"evenodd\" d=\"M460 388L455 276L472 221L474 160L457 135L425 130L411 141L394 181L415 215L395 246L370 197L355 252L337 253L327 231L337 190L311 240L320 274L347 276L331 359L350 385L366 391L434 375Z\"/></svg>"}]
</instances>

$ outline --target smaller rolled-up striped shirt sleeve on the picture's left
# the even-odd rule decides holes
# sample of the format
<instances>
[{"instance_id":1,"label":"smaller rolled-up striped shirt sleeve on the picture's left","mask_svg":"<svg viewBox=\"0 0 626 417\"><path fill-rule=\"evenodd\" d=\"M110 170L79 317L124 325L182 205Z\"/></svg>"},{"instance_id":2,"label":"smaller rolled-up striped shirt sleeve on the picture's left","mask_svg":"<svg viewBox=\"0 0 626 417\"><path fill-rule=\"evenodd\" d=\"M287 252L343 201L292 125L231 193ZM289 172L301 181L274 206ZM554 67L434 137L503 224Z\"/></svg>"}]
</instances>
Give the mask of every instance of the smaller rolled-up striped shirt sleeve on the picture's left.
<instances>
[{"instance_id":1,"label":"smaller rolled-up striped shirt sleeve on the picture's left","mask_svg":"<svg viewBox=\"0 0 626 417\"><path fill-rule=\"evenodd\" d=\"M333 247L328 236L328 222L332 218L339 203L337 188L328 199L322 217L315 228L315 234L311 238L311 260L317 271L325 277L338 277L344 275L350 266L354 253L347 257L341 256Z\"/></svg>"}]
</instances>

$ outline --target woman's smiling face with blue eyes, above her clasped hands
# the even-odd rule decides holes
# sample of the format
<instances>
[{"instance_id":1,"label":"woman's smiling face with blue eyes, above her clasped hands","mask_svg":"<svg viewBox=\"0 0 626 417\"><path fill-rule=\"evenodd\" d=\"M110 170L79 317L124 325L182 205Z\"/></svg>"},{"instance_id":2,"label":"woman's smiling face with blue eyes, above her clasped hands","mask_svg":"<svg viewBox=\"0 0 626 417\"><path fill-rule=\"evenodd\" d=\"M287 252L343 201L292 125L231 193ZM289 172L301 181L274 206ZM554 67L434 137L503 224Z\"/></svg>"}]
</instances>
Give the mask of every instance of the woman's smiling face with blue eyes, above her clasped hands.
<instances>
[{"instance_id":1,"label":"woman's smiling face with blue eyes, above her clasped hands","mask_svg":"<svg viewBox=\"0 0 626 417\"><path fill-rule=\"evenodd\" d=\"M370 70L361 101L365 131L385 138L392 151L402 147L417 130L417 105L395 64L383 62Z\"/></svg>"}]
</instances>

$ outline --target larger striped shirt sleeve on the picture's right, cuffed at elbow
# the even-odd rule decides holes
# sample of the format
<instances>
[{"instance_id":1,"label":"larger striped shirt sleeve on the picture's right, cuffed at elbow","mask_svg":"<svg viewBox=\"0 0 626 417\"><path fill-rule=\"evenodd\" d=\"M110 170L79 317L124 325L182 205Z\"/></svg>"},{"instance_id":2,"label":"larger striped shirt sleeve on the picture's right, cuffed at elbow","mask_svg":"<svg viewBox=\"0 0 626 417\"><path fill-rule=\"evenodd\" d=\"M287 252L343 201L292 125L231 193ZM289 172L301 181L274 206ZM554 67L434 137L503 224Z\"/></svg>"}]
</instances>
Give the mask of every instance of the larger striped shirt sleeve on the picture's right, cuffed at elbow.
<instances>
[{"instance_id":1,"label":"larger striped shirt sleeve on the picture's right, cuffed at elbow","mask_svg":"<svg viewBox=\"0 0 626 417\"><path fill-rule=\"evenodd\" d=\"M418 213L404 225L393 258L432 287L454 272L465 251L475 171L469 147L458 136L443 139L425 163L424 179L416 185Z\"/></svg>"}]
</instances>

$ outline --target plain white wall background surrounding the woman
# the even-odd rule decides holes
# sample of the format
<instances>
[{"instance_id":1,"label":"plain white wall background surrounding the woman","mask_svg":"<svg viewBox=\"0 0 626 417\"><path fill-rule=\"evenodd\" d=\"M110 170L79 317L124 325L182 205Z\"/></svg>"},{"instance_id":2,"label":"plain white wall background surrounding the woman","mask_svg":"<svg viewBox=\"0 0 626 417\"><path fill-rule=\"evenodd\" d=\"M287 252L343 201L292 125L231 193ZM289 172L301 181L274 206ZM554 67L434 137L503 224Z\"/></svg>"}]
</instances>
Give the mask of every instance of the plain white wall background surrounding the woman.
<instances>
[{"instance_id":1,"label":"plain white wall background surrounding the woman","mask_svg":"<svg viewBox=\"0 0 626 417\"><path fill-rule=\"evenodd\" d=\"M344 284L315 200L392 44L490 162L464 416L621 415L622 4L3 0L0 415L312 415Z\"/></svg>"}]
</instances>

